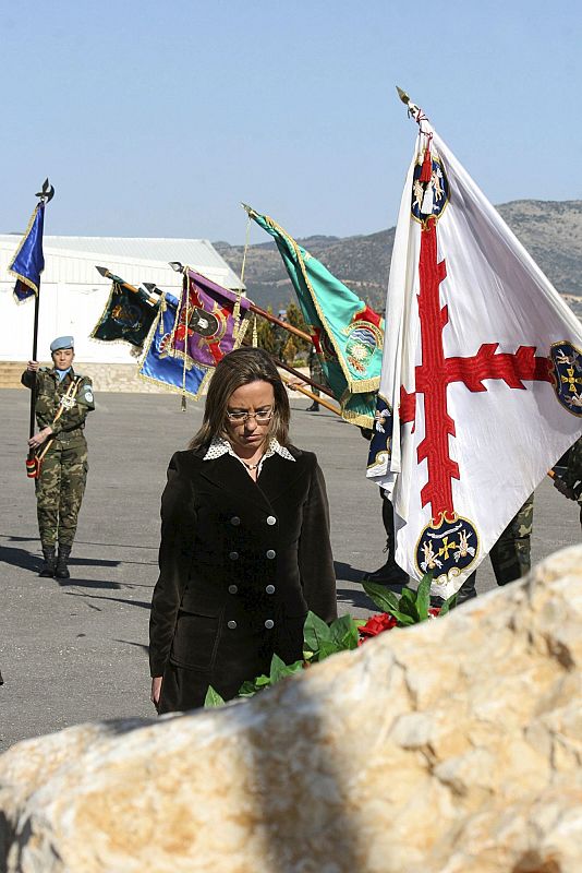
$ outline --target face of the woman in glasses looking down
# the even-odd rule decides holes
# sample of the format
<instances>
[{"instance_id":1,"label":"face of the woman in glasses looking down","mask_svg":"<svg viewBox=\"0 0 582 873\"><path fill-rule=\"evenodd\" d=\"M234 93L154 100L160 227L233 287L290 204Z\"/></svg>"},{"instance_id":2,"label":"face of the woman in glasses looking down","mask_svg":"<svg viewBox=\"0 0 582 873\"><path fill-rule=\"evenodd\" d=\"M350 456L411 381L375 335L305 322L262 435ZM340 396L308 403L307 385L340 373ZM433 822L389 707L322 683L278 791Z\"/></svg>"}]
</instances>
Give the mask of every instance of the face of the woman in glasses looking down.
<instances>
[{"instance_id":1,"label":"face of the woman in glasses looking down","mask_svg":"<svg viewBox=\"0 0 582 873\"><path fill-rule=\"evenodd\" d=\"M225 422L228 439L234 451L242 451L251 457L265 443L270 428L270 420L257 421L255 415L258 412L272 412L275 408L275 393L270 382L250 382L233 391L227 405L228 412L251 414L244 420L233 421L228 418Z\"/></svg>"}]
</instances>

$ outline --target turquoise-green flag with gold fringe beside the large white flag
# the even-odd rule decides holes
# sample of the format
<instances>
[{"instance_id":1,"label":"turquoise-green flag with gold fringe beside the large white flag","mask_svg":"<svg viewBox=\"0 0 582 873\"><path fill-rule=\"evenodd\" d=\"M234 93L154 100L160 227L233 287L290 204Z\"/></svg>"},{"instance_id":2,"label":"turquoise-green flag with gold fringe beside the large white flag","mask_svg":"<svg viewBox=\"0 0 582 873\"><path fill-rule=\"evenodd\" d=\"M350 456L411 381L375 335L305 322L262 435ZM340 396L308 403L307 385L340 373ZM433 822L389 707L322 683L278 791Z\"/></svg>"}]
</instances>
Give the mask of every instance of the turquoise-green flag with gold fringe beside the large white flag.
<instances>
[{"instance_id":1,"label":"turquoise-green flag with gold fringe beside the large white flag","mask_svg":"<svg viewBox=\"0 0 582 873\"><path fill-rule=\"evenodd\" d=\"M293 283L326 381L345 421L373 427L380 381L384 319L302 249L267 215L245 206L275 238Z\"/></svg>"}]
</instances>

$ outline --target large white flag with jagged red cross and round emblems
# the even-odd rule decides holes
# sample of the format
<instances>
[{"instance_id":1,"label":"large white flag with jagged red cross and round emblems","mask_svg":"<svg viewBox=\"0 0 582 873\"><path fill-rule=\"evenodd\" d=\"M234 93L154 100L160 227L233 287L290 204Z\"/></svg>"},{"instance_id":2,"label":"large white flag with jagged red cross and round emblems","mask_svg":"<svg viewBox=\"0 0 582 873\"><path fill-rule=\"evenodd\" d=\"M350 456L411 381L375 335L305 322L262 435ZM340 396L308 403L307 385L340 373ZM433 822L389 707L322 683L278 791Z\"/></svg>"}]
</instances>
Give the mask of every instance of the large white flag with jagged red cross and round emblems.
<instances>
[{"instance_id":1,"label":"large white flag with jagged red cross and round emblems","mask_svg":"<svg viewBox=\"0 0 582 873\"><path fill-rule=\"evenodd\" d=\"M449 597L582 434L582 324L422 115L367 476L396 560Z\"/></svg>"}]
</instances>

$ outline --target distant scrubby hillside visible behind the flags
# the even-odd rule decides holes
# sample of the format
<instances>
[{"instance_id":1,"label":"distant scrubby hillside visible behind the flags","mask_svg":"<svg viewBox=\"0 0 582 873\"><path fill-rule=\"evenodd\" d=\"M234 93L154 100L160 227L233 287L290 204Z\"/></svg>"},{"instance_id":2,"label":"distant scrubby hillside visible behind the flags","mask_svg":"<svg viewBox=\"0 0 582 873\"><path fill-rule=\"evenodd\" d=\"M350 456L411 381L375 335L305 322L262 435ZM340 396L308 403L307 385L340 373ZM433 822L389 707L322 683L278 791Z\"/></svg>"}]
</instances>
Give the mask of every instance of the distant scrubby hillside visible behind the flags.
<instances>
[{"instance_id":1,"label":"distant scrubby hillside visible behind the flags","mask_svg":"<svg viewBox=\"0 0 582 873\"><path fill-rule=\"evenodd\" d=\"M497 208L550 282L582 316L582 201L517 200ZM393 239L392 227L368 236L315 236L298 241L360 297L383 309ZM243 247L214 244L240 275ZM260 307L271 306L275 312L293 298L274 242L248 248L244 279L248 297Z\"/></svg>"}]
</instances>

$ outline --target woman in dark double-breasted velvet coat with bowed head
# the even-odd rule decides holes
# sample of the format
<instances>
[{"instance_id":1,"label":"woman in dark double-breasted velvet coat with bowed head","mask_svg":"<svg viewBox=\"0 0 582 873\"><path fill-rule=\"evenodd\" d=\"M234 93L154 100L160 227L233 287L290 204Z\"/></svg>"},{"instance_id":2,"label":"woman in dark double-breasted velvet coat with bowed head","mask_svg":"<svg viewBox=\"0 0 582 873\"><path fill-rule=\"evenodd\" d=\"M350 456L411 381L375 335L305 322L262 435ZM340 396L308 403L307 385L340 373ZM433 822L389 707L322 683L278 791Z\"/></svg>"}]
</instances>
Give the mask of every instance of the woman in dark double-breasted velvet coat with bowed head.
<instances>
[{"instance_id":1,"label":"woman in dark double-breasted velvet coat with bowed head","mask_svg":"<svg viewBox=\"0 0 582 873\"><path fill-rule=\"evenodd\" d=\"M289 399L269 356L217 366L204 422L177 452L161 499L160 575L149 624L159 713L225 699L302 657L307 610L337 615L324 477L288 442Z\"/></svg>"}]
</instances>

